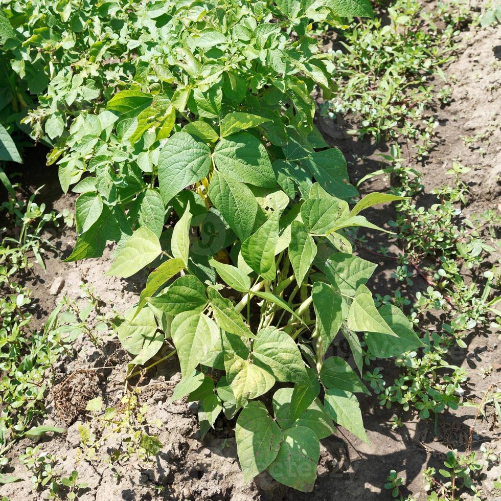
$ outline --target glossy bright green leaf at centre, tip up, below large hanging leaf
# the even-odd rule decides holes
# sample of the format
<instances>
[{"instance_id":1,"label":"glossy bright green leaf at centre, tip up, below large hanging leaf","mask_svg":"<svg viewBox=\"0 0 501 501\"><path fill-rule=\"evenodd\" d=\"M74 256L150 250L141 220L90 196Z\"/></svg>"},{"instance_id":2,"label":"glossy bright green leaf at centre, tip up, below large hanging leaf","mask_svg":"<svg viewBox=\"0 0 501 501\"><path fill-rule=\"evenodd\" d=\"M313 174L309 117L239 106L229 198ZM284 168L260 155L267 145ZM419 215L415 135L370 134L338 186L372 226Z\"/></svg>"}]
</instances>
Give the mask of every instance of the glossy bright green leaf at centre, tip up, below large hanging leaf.
<instances>
[{"instance_id":1,"label":"glossy bright green leaf at centre, tip up, below large hanging leaf","mask_svg":"<svg viewBox=\"0 0 501 501\"><path fill-rule=\"evenodd\" d=\"M278 240L280 213L275 211L270 218L242 243L240 252L245 262L265 280L274 280L277 275L275 247Z\"/></svg>"}]
</instances>

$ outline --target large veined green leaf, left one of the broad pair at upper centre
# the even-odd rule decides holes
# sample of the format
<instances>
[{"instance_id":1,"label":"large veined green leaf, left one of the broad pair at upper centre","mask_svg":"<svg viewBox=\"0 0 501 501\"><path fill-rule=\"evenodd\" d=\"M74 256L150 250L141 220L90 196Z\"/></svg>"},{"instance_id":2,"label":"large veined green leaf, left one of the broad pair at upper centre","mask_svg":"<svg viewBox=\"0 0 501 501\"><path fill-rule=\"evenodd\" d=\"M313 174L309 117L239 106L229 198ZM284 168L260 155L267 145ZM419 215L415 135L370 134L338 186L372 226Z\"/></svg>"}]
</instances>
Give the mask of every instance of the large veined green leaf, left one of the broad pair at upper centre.
<instances>
[{"instance_id":1,"label":"large veined green leaf, left one of the broad pair at upper centre","mask_svg":"<svg viewBox=\"0 0 501 501\"><path fill-rule=\"evenodd\" d=\"M209 174L211 149L186 132L176 132L160 148L158 183L164 203Z\"/></svg>"}]
</instances>

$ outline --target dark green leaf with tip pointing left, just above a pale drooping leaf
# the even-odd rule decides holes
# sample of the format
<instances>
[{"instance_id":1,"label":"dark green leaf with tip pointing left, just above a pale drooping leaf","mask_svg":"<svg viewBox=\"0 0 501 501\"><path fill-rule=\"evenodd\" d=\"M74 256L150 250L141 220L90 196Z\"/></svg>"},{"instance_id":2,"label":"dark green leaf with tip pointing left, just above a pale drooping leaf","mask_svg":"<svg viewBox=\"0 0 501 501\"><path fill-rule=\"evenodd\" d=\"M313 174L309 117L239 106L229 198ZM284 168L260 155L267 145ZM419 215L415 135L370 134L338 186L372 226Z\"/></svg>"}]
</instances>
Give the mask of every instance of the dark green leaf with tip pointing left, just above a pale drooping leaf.
<instances>
[{"instance_id":1,"label":"dark green leaf with tip pointing left, just above a pale drooping leaf","mask_svg":"<svg viewBox=\"0 0 501 501\"><path fill-rule=\"evenodd\" d=\"M148 299L148 303L168 315L183 311L202 311L207 304L206 288L193 275L179 277L164 294Z\"/></svg>"}]
</instances>

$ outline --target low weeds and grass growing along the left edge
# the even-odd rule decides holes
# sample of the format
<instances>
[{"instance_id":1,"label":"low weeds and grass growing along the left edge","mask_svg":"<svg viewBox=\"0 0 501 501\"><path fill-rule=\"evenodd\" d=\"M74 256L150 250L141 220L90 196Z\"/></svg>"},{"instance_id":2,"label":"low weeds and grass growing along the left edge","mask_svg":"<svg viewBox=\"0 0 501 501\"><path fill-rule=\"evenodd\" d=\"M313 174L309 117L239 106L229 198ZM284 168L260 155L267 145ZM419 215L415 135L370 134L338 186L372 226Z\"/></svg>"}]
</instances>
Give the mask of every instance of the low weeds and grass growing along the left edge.
<instances>
[{"instance_id":1,"label":"low weeds and grass growing along the left edge","mask_svg":"<svg viewBox=\"0 0 501 501\"><path fill-rule=\"evenodd\" d=\"M30 252L44 269L43 249L53 247L41 235L46 225L58 225L64 216L38 206L37 191L23 203L12 194L15 185L8 187L0 214L17 234L4 236L0 245L0 466L7 464L5 453L14 441L34 419L45 416L44 398L52 382L47 371L52 373L58 358L70 353L84 329L67 300L49 315L43 330L33 329L31 293L17 280L33 266ZM67 216L65 222L71 222ZM6 228L1 231L7 235Z\"/></svg>"}]
</instances>

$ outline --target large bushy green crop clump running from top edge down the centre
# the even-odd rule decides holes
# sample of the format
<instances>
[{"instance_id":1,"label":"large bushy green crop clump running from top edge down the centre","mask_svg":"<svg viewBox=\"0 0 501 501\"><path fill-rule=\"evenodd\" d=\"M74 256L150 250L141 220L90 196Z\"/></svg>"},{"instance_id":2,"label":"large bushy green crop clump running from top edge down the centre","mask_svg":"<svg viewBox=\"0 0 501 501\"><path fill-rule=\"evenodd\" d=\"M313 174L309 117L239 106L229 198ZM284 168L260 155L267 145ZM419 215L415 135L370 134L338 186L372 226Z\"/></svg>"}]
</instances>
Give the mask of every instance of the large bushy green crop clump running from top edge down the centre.
<instances>
[{"instance_id":1,"label":"large bushy green crop clump running from top edge down the centre","mask_svg":"<svg viewBox=\"0 0 501 501\"><path fill-rule=\"evenodd\" d=\"M72 2L52 4L73 19ZM80 194L67 260L100 257L115 241L109 275L153 266L117 325L131 363L144 364L171 338L182 374L172 399L200 402L202 436L221 413L236 418L246 481L267 470L310 491L319 440L334 423L368 440L355 396L368 390L333 356L335 338L347 340L358 373L365 350L391 357L421 346L398 308L375 307L366 285L375 265L352 254L346 233L378 230L362 211L402 197L372 193L350 209L358 192L345 158L313 124L311 93L329 97L335 65L310 30L370 16L370 5L111 1L99 9L122 4L132 21L122 19L119 34L111 23L89 54L104 61L125 40L128 73L120 83L110 74L105 105L55 115L62 123L50 162L63 189ZM82 20L75 40L96 18ZM40 29L32 39L50 37ZM53 120L45 119L49 136Z\"/></svg>"}]
</instances>

